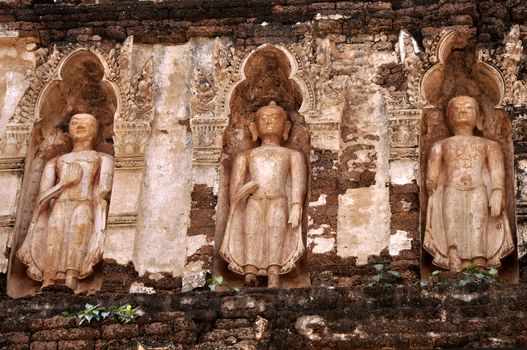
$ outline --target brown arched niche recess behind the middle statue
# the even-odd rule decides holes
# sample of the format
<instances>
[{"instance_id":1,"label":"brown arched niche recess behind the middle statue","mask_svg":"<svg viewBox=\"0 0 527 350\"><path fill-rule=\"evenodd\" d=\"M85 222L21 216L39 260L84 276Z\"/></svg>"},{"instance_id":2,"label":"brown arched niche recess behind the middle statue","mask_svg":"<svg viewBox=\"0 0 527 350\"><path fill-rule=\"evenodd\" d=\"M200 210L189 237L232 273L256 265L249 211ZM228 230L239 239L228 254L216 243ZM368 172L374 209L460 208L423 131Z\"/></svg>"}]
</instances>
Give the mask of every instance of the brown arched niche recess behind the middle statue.
<instances>
[{"instance_id":1,"label":"brown arched niche recess behind the middle statue","mask_svg":"<svg viewBox=\"0 0 527 350\"><path fill-rule=\"evenodd\" d=\"M232 93L229 125L223 135L213 262L214 275L223 276L230 286L238 288L243 286L243 276L230 271L218 251L223 240L229 212L229 183L232 162L237 154L259 146L259 143L252 141L249 131L249 124L254 121L256 110L274 100L288 112L292 123L289 139L283 142L282 146L302 152L305 156L306 165L309 165L311 150L308 126L303 116L298 113L303 97L297 83L289 79L291 65L288 57L274 46L264 46L252 53L243 72L246 78L239 83ZM307 204L310 188L309 166L307 168L307 194L302 216L304 245L306 244ZM282 275L281 287L310 286L306 256L304 252L293 271ZM267 285L267 278L259 277L259 284L260 286Z\"/></svg>"}]
</instances>

